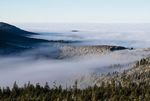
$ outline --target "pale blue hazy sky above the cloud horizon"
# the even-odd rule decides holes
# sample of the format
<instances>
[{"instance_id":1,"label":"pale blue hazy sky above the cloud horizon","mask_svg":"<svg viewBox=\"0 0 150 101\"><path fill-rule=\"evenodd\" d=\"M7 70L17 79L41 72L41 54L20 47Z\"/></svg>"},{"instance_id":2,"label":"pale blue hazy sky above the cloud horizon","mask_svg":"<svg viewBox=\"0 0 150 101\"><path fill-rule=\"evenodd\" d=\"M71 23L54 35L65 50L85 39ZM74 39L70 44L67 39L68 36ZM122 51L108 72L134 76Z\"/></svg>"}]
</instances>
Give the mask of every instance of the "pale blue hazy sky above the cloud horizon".
<instances>
[{"instance_id":1,"label":"pale blue hazy sky above the cloud horizon","mask_svg":"<svg viewBox=\"0 0 150 101\"><path fill-rule=\"evenodd\" d=\"M150 0L1 0L0 21L150 23Z\"/></svg>"}]
</instances>

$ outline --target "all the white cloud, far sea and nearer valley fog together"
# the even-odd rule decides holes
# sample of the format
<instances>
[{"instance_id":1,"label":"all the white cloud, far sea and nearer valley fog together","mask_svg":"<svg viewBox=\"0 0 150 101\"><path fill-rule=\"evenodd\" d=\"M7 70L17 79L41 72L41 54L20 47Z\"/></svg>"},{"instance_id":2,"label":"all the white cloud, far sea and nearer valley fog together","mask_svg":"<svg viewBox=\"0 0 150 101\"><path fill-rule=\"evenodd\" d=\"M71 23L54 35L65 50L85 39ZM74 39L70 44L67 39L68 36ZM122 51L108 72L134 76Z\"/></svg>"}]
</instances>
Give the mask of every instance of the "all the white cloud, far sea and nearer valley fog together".
<instances>
[{"instance_id":1,"label":"all the white cloud, far sea and nearer valley fog together","mask_svg":"<svg viewBox=\"0 0 150 101\"><path fill-rule=\"evenodd\" d=\"M32 36L34 38L82 41L75 43L77 45L150 47L150 24L18 24L17 26L41 33L41 35ZM78 30L78 32L71 32L72 30ZM142 49L136 49L101 56L52 59L38 56L39 53L55 55L55 49L42 46L18 56L0 56L0 86L12 86L15 81L20 86L28 81L42 85L46 82L50 85L53 85L53 82L64 86L72 85L76 79L82 76L88 77L92 73L107 74L128 69L130 67L128 64L133 64L149 54ZM123 67L110 68L117 64ZM84 83L90 85L89 82Z\"/></svg>"}]
</instances>

